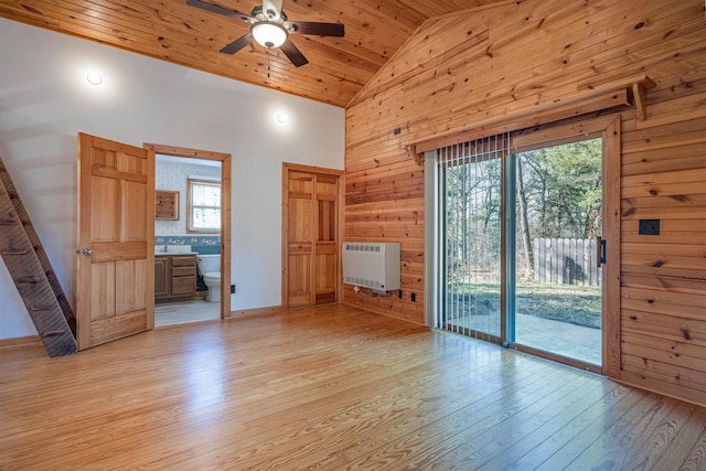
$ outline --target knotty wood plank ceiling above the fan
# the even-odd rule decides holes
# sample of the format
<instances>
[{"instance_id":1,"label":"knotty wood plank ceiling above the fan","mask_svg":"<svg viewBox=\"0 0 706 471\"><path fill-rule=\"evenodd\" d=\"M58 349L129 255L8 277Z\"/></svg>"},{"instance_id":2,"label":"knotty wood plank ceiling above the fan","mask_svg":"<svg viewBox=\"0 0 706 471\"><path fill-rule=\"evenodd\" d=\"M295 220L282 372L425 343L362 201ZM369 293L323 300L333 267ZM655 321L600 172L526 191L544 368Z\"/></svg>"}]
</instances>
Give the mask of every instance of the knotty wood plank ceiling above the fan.
<instances>
[{"instance_id":1,"label":"knotty wood plank ceiling above the fan","mask_svg":"<svg viewBox=\"0 0 706 471\"><path fill-rule=\"evenodd\" d=\"M220 53L249 26L185 0L0 0L0 17L343 107L426 19L496 1L285 0L290 20L345 24L345 38L292 36L310 61L299 68L257 44ZM213 2L245 13L260 4Z\"/></svg>"}]
</instances>

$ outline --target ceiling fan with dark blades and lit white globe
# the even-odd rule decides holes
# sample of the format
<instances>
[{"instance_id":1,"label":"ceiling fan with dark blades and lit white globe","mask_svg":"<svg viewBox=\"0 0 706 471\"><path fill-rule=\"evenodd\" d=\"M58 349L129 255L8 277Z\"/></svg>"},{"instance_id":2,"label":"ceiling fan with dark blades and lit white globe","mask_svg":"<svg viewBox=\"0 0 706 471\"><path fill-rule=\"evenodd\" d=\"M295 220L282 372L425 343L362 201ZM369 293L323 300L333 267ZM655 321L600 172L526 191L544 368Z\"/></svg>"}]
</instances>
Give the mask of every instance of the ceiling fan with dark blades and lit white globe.
<instances>
[{"instance_id":1,"label":"ceiling fan with dark blades and lit white globe","mask_svg":"<svg viewBox=\"0 0 706 471\"><path fill-rule=\"evenodd\" d=\"M289 40L290 34L311 34L315 36L334 38L343 38L344 34L342 23L289 21L287 14L282 11L282 0L263 0L263 6L255 7L249 15L203 0L186 0L186 4L235 18L250 25L249 33L238 38L221 50L224 54L235 54L255 41L267 49L281 49L287 58L289 58L296 67L301 67L308 64L309 61L307 61L307 57L299 51L297 45Z\"/></svg>"}]
</instances>

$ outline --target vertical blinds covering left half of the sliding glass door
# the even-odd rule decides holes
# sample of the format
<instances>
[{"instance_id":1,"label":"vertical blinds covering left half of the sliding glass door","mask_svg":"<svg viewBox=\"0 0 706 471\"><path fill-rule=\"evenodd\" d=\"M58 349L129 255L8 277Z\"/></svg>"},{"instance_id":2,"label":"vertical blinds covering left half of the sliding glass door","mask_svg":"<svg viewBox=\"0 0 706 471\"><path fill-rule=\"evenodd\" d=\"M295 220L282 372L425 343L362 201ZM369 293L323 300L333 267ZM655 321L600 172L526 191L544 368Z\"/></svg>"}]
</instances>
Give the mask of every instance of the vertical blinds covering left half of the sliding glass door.
<instances>
[{"instance_id":1,"label":"vertical blinds covering left half of the sliding glass door","mask_svg":"<svg viewBox=\"0 0 706 471\"><path fill-rule=\"evenodd\" d=\"M509 136L437 150L440 297L436 324L500 342L503 158Z\"/></svg>"}]
</instances>

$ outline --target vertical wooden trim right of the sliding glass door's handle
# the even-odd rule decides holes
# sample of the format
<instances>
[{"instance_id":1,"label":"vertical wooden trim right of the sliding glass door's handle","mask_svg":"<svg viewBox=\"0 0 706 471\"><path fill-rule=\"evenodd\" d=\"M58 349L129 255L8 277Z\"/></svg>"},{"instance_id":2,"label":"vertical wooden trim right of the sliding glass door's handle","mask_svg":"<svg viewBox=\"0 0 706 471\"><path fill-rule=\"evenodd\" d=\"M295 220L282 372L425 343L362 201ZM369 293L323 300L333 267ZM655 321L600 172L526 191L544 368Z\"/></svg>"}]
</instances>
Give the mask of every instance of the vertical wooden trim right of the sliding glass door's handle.
<instances>
[{"instance_id":1,"label":"vertical wooden trim right of the sliding glass door's handle","mask_svg":"<svg viewBox=\"0 0 706 471\"><path fill-rule=\"evenodd\" d=\"M620 115L603 130L603 239L607 242L602 297L602 373L620 378Z\"/></svg>"}]
</instances>

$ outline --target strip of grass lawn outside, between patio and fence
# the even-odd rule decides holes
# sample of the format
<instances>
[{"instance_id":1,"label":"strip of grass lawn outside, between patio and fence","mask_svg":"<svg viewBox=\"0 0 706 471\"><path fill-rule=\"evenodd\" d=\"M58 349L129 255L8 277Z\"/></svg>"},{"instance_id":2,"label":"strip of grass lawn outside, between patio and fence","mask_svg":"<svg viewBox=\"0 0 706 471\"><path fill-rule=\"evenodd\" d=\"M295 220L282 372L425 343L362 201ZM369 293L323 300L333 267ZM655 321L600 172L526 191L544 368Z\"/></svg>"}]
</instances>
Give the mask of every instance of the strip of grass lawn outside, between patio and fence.
<instances>
[{"instance_id":1,"label":"strip of grass lawn outside, between patio and fence","mask_svg":"<svg viewBox=\"0 0 706 471\"><path fill-rule=\"evenodd\" d=\"M450 302L466 303L479 314L500 311L500 282L452 283L449 288ZM600 329L600 287L517 283L515 300L520 314Z\"/></svg>"}]
</instances>

